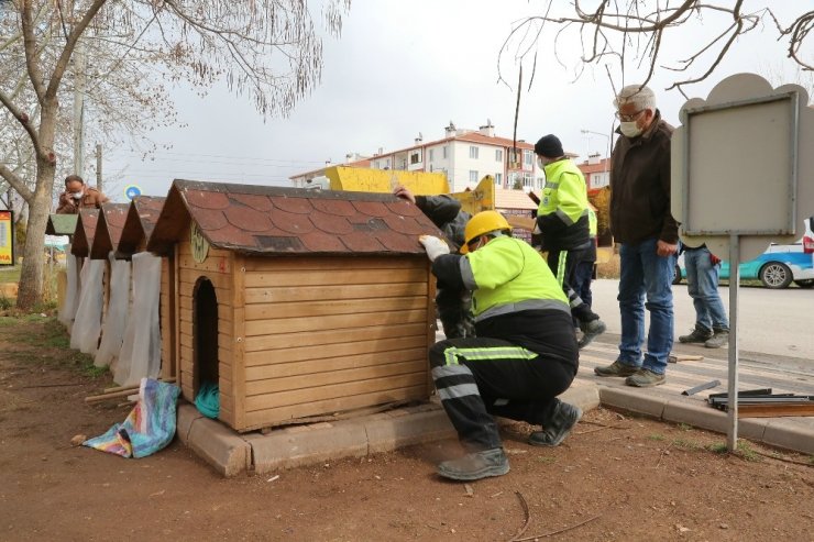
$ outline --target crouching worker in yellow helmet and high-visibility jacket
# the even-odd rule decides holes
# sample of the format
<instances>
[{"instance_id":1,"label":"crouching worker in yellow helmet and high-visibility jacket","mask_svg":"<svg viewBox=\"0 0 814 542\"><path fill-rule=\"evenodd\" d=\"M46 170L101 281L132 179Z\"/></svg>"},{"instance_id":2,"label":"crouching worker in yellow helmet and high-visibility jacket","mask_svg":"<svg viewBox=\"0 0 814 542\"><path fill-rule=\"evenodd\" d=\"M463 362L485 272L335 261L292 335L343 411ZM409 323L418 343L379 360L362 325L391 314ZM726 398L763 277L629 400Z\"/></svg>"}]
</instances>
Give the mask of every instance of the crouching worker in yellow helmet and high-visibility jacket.
<instances>
[{"instance_id":1,"label":"crouching worker in yellow helmet and high-visibility jacket","mask_svg":"<svg viewBox=\"0 0 814 542\"><path fill-rule=\"evenodd\" d=\"M475 338L430 347L432 379L466 450L438 473L455 480L501 476L509 469L493 416L542 425L529 443L556 446L582 411L557 399L571 386L579 349L562 287L540 254L512 236L496 211L469 221L463 255L440 239L419 241L439 281L473 292Z\"/></svg>"}]
</instances>

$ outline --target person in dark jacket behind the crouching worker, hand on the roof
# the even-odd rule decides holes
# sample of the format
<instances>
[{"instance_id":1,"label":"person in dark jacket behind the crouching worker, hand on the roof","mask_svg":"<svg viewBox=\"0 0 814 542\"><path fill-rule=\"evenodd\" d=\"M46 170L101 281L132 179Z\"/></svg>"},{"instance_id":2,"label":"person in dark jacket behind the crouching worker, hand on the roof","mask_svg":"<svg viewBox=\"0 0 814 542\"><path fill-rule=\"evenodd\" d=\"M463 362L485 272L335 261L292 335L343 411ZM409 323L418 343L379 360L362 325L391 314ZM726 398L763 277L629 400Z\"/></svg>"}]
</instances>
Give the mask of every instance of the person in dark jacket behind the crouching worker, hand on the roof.
<instances>
[{"instance_id":1,"label":"person in dark jacket behind the crouching worker, hand on the roof","mask_svg":"<svg viewBox=\"0 0 814 542\"><path fill-rule=\"evenodd\" d=\"M402 185L396 186L393 193L418 207L443 232L455 251L463 245L464 228L472 215L461 210L461 202L455 198L446 193L440 196L415 196L407 187ZM475 334L471 292L450 288L439 280L436 307L447 339L473 336Z\"/></svg>"}]
</instances>

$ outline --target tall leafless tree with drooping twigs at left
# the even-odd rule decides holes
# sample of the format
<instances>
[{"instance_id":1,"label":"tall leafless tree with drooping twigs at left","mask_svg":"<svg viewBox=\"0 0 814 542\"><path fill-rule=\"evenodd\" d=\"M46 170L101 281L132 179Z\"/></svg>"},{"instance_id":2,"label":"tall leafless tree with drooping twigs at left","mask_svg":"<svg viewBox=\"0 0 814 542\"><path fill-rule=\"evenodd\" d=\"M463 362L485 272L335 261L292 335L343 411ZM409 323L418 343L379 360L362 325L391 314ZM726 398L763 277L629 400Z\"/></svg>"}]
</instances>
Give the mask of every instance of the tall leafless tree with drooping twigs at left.
<instances>
[{"instance_id":1,"label":"tall leafless tree with drooping twigs at left","mask_svg":"<svg viewBox=\"0 0 814 542\"><path fill-rule=\"evenodd\" d=\"M322 4L322 27L338 36L350 0ZM0 0L0 177L29 204L18 307L42 297L54 178L69 173L75 128L62 103L75 89L99 112L95 130L145 132L174 121L177 82L205 92L226 81L261 115L286 115L321 69L307 0ZM28 157L31 177L18 167Z\"/></svg>"}]
</instances>

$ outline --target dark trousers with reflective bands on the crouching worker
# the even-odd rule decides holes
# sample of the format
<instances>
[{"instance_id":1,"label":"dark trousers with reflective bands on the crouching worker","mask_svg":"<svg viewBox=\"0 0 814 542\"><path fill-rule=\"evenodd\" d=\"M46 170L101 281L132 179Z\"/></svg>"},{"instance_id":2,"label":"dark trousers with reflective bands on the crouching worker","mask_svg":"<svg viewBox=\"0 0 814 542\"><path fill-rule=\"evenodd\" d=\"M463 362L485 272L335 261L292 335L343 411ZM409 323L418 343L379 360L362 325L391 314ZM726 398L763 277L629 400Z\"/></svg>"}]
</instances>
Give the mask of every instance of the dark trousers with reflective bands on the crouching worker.
<instances>
[{"instance_id":1,"label":"dark trousers with reflective bands on the crouching worker","mask_svg":"<svg viewBox=\"0 0 814 542\"><path fill-rule=\"evenodd\" d=\"M501 339L449 339L429 352L441 405L468 452L501 447L494 416L544 425L576 367Z\"/></svg>"}]
</instances>

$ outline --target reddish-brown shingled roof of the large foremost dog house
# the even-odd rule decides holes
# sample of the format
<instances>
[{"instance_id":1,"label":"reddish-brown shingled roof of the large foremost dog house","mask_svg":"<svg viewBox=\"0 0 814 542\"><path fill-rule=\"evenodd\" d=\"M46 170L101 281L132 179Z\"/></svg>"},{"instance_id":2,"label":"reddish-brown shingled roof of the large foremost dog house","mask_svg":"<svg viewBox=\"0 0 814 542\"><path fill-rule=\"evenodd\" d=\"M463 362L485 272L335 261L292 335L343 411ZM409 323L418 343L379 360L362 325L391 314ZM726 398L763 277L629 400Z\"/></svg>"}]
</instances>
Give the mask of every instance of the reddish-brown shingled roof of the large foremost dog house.
<instances>
[{"instance_id":1,"label":"reddish-brown shingled roof of the large foremost dog house","mask_svg":"<svg viewBox=\"0 0 814 542\"><path fill-rule=\"evenodd\" d=\"M441 232L389 193L175 180L147 250L166 254L194 220L209 243L252 255L424 254Z\"/></svg>"}]
</instances>

